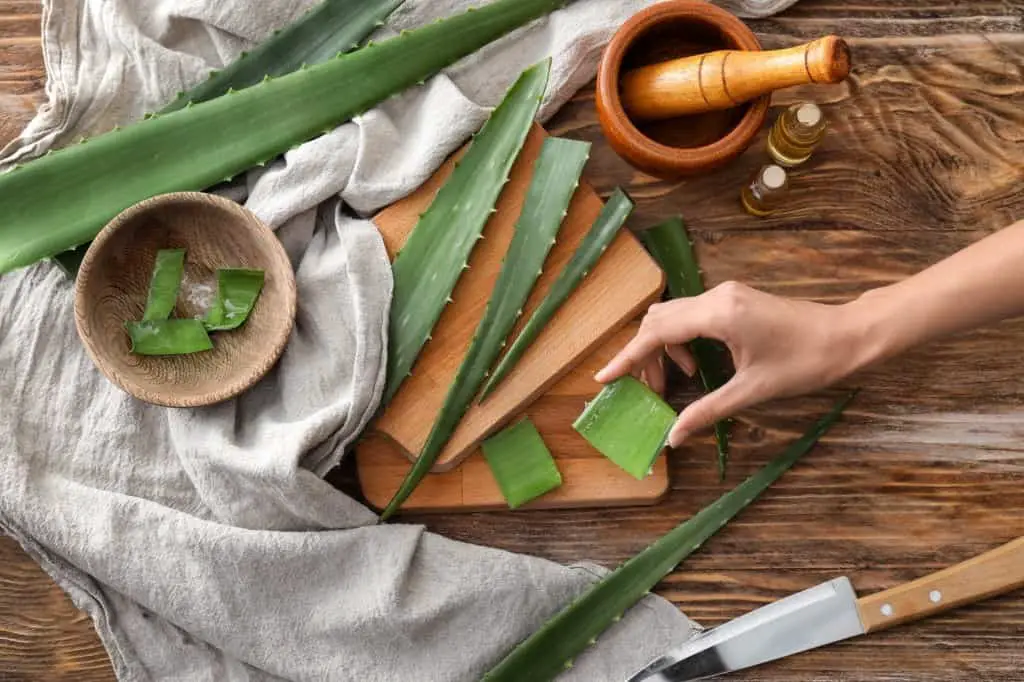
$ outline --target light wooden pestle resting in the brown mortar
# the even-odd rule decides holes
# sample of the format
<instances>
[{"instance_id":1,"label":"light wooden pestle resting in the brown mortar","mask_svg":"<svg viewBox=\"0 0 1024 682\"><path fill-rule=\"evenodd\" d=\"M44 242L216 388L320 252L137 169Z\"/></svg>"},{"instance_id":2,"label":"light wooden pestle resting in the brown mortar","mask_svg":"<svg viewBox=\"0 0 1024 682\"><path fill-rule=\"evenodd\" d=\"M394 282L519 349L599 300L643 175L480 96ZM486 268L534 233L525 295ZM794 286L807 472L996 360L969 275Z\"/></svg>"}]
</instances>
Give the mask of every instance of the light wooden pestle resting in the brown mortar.
<instances>
[{"instance_id":1,"label":"light wooden pestle resting in the brown mortar","mask_svg":"<svg viewBox=\"0 0 1024 682\"><path fill-rule=\"evenodd\" d=\"M839 83L850 73L842 38L779 50L717 50L642 67L623 75L620 96L632 119L670 119L729 109L807 83Z\"/></svg>"}]
</instances>

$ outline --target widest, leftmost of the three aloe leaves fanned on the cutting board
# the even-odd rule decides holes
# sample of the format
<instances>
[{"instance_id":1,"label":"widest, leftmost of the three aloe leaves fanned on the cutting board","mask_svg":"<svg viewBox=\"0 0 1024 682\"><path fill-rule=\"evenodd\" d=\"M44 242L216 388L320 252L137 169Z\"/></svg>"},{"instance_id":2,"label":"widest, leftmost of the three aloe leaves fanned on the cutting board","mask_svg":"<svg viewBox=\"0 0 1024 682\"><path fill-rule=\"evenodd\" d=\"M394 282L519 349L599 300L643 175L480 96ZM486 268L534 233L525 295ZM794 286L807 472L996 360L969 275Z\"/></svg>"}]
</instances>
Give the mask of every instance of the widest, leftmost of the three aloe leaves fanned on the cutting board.
<instances>
[{"instance_id":1,"label":"widest, leftmost of the three aloe leaves fanned on the cutting board","mask_svg":"<svg viewBox=\"0 0 1024 682\"><path fill-rule=\"evenodd\" d=\"M550 68L549 58L519 76L420 216L391 265L394 293L384 403L390 402L409 376L467 267L537 116Z\"/></svg>"}]
</instances>

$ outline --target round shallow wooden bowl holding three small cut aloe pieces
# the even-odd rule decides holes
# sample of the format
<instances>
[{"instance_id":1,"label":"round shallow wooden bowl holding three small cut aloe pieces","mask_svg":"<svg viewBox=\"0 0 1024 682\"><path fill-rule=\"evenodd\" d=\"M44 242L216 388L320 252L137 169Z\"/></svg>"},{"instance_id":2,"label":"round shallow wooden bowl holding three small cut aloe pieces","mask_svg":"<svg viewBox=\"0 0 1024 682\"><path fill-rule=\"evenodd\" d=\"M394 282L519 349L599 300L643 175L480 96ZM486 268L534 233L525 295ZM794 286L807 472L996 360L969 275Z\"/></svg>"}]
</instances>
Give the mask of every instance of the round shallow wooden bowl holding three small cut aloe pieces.
<instances>
[{"instance_id":1,"label":"round shallow wooden bowl holding three small cut aloe pieces","mask_svg":"<svg viewBox=\"0 0 1024 682\"><path fill-rule=\"evenodd\" d=\"M173 317L202 316L220 267L261 268L263 290L239 329L212 332L213 350L132 354L124 323L140 319L160 249L185 249ZM146 402L213 404L242 393L281 357L295 324L295 273L281 242L232 201L202 193L162 195L126 209L96 236L79 269L75 324L96 367Z\"/></svg>"}]
</instances>

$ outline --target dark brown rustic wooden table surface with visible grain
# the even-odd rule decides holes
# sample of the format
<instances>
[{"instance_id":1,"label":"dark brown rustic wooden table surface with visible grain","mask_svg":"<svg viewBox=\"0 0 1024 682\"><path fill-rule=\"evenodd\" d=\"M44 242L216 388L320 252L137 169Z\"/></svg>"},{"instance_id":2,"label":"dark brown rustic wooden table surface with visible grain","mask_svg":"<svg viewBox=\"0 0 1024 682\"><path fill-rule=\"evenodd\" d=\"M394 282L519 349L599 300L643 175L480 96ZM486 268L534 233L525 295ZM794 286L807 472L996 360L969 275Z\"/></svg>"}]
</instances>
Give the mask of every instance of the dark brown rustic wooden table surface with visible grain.
<instances>
[{"instance_id":1,"label":"dark brown rustic wooden table surface with visible grain","mask_svg":"<svg viewBox=\"0 0 1024 682\"><path fill-rule=\"evenodd\" d=\"M839 32L854 54L849 83L776 97L813 97L833 125L777 216L748 217L736 202L764 159L763 135L728 169L670 183L632 171L603 142L590 89L551 126L595 143L588 176L604 194L628 188L638 200L633 225L682 212L711 284L843 301L1024 218L1024 0L802 0L752 25L766 47ZM38 3L0 0L0 142L29 120L43 86ZM843 424L658 592L715 625L836 576L867 593L1024 535L1022 347L1024 322L1006 323L847 382L863 392ZM676 407L696 395L685 381L673 386ZM741 415L725 485L710 438L674 453L672 492L656 507L410 520L463 541L613 565L764 463L837 394ZM350 472L339 480L352 489ZM736 679L1020 680L1022 671L1016 593ZM89 621L8 539L0 679L113 679Z\"/></svg>"}]
</instances>

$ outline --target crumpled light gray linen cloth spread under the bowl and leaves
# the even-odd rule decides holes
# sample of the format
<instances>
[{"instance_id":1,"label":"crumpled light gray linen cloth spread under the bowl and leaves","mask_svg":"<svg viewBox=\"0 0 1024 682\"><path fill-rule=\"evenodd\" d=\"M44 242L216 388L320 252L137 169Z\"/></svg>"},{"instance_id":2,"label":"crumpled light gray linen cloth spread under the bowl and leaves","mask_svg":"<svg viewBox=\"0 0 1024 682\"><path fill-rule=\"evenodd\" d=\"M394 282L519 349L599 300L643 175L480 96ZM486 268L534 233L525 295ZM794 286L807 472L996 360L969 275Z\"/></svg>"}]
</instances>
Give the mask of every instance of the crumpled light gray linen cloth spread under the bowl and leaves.
<instances>
[{"instance_id":1,"label":"crumpled light gray linen cloth spread under the bowl and leaves","mask_svg":"<svg viewBox=\"0 0 1024 682\"><path fill-rule=\"evenodd\" d=\"M44 0L47 101L0 170L140 118L309 4ZM467 4L410 0L381 36ZM579 0L218 188L276 229L299 287L284 356L236 400L130 398L82 350L53 265L0 279L0 529L92 616L120 680L474 680L600 573L378 524L322 476L384 379L390 269L365 216L417 187L548 55L541 118L553 114L646 4ZM615 682L694 628L647 597L562 677Z\"/></svg>"}]
</instances>

